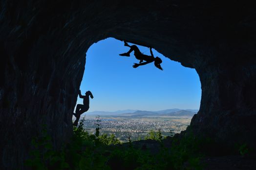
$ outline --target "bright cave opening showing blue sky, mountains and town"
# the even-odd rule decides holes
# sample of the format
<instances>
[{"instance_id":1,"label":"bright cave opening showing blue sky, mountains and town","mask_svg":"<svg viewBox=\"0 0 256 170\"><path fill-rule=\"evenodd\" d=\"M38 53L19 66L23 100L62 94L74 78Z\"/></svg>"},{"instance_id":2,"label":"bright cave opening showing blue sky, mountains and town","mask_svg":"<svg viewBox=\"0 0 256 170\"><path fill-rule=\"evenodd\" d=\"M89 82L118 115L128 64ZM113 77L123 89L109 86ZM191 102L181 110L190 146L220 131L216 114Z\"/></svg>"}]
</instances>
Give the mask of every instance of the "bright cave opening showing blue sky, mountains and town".
<instances>
[{"instance_id":1,"label":"bright cave opening showing blue sky, mountains and town","mask_svg":"<svg viewBox=\"0 0 256 170\"><path fill-rule=\"evenodd\" d=\"M150 55L149 48L137 46ZM132 68L133 63L139 63L133 52L130 57L119 55L128 50L124 42L107 38L94 43L86 52L80 89L82 95L90 90L94 98L80 118L86 115L85 129L93 133L95 117L99 115L102 132L116 136L133 133L138 138L140 132L157 129L170 136L170 132L185 130L200 107L201 84L195 69L183 67L154 49L154 56L163 61L163 71L153 63ZM79 96L77 104L83 104Z\"/></svg>"}]
</instances>

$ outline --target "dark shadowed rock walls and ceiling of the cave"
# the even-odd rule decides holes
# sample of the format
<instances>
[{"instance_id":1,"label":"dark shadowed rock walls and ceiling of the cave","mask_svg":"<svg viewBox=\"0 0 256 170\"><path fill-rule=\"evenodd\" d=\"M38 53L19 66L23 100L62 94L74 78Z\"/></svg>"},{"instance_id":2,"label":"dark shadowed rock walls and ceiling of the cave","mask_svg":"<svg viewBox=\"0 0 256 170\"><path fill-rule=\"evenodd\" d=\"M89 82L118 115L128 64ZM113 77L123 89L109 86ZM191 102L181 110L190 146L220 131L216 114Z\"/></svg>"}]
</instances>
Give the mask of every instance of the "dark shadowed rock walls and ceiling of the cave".
<instances>
[{"instance_id":1,"label":"dark shadowed rock walls and ceiling of the cave","mask_svg":"<svg viewBox=\"0 0 256 170\"><path fill-rule=\"evenodd\" d=\"M0 169L23 168L43 125L56 148L68 141L85 52L107 37L195 68L195 134L255 145L255 30L254 5L245 1L1 0Z\"/></svg>"}]
</instances>

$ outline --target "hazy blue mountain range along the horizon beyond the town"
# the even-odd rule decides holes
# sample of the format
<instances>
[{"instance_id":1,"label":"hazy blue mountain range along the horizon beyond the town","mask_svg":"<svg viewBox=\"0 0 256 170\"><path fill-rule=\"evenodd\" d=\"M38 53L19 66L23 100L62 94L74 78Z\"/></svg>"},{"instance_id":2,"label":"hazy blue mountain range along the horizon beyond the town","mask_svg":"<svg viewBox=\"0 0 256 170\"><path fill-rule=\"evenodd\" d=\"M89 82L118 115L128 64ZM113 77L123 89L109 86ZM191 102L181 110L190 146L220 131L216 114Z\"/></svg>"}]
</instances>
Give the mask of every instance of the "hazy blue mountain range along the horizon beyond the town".
<instances>
[{"instance_id":1,"label":"hazy blue mountain range along the horizon beyond the town","mask_svg":"<svg viewBox=\"0 0 256 170\"><path fill-rule=\"evenodd\" d=\"M85 114L90 115L111 115L111 116L124 116L124 117L144 117L144 116L193 116L198 112L197 109L166 109L159 111L146 111L146 110L118 110L114 112L106 111L93 111Z\"/></svg>"}]
</instances>

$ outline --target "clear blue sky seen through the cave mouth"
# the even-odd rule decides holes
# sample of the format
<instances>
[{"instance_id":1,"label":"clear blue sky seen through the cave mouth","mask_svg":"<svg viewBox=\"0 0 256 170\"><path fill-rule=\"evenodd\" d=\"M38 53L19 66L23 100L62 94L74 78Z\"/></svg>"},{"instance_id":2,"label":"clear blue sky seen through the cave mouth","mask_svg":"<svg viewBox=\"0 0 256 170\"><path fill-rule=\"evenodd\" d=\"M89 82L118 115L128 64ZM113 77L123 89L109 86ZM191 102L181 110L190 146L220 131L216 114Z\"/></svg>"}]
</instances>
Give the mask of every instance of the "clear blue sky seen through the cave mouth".
<instances>
[{"instance_id":1,"label":"clear blue sky seen through the cave mouth","mask_svg":"<svg viewBox=\"0 0 256 170\"><path fill-rule=\"evenodd\" d=\"M149 48L138 46L141 52L150 55ZM119 56L127 52L124 42L107 38L93 44L86 52L86 64L80 89L82 95L90 90L91 111L164 110L171 108L199 109L201 84L195 69L185 68L180 63L158 53L163 71L153 63L132 68L139 61L134 57ZM83 103L78 98L77 103Z\"/></svg>"}]
</instances>

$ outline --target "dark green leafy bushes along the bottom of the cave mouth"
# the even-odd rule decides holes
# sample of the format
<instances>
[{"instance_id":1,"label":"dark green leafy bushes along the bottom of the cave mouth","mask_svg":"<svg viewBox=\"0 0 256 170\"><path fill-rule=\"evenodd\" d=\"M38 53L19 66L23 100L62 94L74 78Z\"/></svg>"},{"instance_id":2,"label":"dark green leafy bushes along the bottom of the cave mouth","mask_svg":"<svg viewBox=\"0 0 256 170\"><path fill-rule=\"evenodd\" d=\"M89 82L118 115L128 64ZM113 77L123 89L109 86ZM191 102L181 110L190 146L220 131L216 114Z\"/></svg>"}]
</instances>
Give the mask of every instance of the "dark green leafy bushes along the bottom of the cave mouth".
<instances>
[{"instance_id":1,"label":"dark green leafy bushes along the bottom of the cave mouth","mask_svg":"<svg viewBox=\"0 0 256 170\"><path fill-rule=\"evenodd\" d=\"M122 143L114 135L100 135L97 121L94 134L86 132L83 123L74 126L72 140L59 151L53 149L44 127L42 135L32 139L33 149L25 165L33 170L202 170L201 150L212 142L193 135L165 140L159 130L150 131L146 140L132 142L128 137Z\"/></svg>"}]
</instances>

